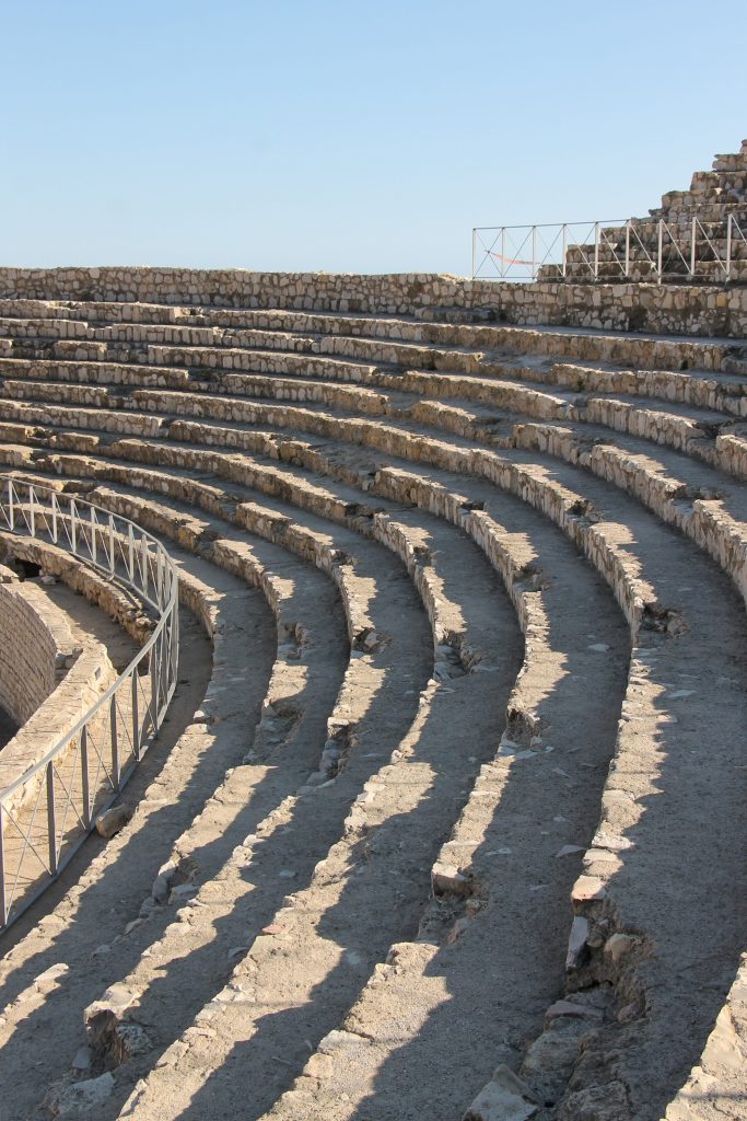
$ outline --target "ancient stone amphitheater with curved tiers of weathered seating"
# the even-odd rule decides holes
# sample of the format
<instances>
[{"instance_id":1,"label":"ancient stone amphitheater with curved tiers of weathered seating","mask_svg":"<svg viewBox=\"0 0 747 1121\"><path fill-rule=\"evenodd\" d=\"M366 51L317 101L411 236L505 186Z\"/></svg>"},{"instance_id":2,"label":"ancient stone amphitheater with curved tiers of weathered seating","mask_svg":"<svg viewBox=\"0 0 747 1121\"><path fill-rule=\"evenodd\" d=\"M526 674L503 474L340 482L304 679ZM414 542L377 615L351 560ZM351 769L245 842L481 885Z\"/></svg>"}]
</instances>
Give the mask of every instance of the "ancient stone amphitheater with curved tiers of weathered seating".
<instances>
[{"instance_id":1,"label":"ancient stone amphitheater with curved tiers of weathered seating","mask_svg":"<svg viewBox=\"0 0 747 1121\"><path fill-rule=\"evenodd\" d=\"M0 268L2 1121L747 1118L747 141L626 229Z\"/></svg>"}]
</instances>

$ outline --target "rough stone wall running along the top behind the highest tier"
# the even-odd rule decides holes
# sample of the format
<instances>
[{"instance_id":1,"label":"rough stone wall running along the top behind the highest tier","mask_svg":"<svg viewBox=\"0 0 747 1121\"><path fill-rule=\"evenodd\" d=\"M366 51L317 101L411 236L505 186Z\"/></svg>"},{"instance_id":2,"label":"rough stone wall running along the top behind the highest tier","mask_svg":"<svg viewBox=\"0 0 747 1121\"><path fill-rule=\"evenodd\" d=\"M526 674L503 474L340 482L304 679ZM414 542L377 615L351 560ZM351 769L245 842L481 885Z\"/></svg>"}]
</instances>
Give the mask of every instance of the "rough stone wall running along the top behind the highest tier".
<instances>
[{"instance_id":1,"label":"rough stone wall running along the top behind the highest tier","mask_svg":"<svg viewBox=\"0 0 747 1121\"><path fill-rule=\"evenodd\" d=\"M0 268L3 297L365 312L693 335L747 334L747 288L743 287L523 285L438 274Z\"/></svg>"}]
</instances>

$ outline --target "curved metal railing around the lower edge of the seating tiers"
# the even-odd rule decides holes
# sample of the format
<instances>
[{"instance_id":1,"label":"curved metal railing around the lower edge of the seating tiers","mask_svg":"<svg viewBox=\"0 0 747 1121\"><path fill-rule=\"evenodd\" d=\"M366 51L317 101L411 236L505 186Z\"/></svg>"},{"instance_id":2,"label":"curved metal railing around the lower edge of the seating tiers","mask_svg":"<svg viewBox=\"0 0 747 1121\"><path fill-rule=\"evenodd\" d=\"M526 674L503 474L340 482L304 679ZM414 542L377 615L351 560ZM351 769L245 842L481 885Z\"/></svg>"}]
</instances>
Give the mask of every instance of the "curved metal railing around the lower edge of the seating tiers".
<instances>
[{"instance_id":1,"label":"curved metal railing around the lower edge of the seating tiers","mask_svg":"<svg viewBox=\"0 0 747 1121\"><path fill-rule=\"evenodd\" d=\"M0 790L1 930L57 877L158 732L177 680L179 600L160 541L74 494L0 476L0 529L72 553L156 617L124 673L39 762Z\"/></svg>"}]
</instances>

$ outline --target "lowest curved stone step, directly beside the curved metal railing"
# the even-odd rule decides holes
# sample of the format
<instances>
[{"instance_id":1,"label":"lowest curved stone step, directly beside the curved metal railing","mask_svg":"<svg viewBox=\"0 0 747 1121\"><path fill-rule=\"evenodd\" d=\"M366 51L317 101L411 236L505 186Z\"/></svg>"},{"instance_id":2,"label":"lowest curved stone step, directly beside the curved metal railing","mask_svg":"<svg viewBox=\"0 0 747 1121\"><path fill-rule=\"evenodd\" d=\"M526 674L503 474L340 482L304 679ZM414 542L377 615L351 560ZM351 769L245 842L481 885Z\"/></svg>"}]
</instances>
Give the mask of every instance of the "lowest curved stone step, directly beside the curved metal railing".
<instances>
[{"instance_id":1,"label":"lowest curved stone step, directly beside the curved metal railing","mask_svg":"<svg viewBox=\"0 0 747 1121\"><path fill-rule=\"evenodd\" d=\"M52 909L49 896L43 897L36 905L37 921L0 963L4 1006L0 1062L3 1085L12 1093L12 1104L6 1103L9 1117L30 1115L43 1088L27 1076L29 1047L45 1047L48 1078L55 1073L62 1076L82 1009L129 967L132 955L153 936L157 916L148 924L138 921L142 900L150 895L174 840L199 813L226 767L241 759L242 740L259 719L276 647L263 595L178 546L171 545L170 552L179 567L183 601L205 627L215 661L209 665L203 649L206 640L183 617L183 682L159 741L127 788L131 821L93 859L90 854L83 864L72 865L75 879ZM253 673L236 693L230 679L236 665L245 664L248 649ZM192 689L185 687L185 677L193 679ZM180 701L186 692L189 704L192 693L197 689L199 696L205 687L209 724L206 716L194 719L194 700L187 708ZM177 876L175 883L178 880ZM134 926L125 934L131 921ZM64 967L57 969L56 980L45 981L59 963Z\"/></svg>"}]
</instances>

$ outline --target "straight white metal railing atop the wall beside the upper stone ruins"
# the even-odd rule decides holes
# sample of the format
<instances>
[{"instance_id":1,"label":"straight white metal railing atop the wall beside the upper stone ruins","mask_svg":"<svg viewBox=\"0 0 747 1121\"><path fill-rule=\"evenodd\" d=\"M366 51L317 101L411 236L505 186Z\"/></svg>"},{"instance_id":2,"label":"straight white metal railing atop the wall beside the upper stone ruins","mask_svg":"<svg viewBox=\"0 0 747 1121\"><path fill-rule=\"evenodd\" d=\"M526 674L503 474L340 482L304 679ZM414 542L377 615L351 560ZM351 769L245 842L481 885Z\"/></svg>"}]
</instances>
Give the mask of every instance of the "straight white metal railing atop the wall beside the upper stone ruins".
<instances>
[{"instance_id":1,"label":"straight white metal railing atop the wall beside the upper stone ruins","mask_svg":"<svg viewBox=\"0 0 747 1121\"><path fill-rule=\"evenodd\" d=\"M473 229L473 279L728 282L737 263L747 268L747 221L734 213Z\"/></svg>"}]
</instances>

